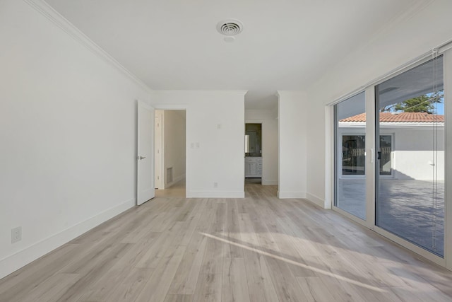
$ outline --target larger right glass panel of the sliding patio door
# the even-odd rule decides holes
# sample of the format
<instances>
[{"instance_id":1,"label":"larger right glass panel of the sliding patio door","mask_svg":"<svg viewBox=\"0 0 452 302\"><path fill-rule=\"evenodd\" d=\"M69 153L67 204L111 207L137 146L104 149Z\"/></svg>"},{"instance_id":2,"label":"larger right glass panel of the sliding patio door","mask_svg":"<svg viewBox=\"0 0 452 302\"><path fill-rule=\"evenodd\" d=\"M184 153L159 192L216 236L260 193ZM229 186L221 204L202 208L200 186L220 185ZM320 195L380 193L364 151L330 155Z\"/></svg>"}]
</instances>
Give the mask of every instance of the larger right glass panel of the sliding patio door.
<instances>
[{"instance_id":1,"label":"larger right glass panel of the sliding patio door","mask_svg":"<svg viewBox=\"0 0 452 302\"><path fill-rule=\"evenodd\" d=\"M438 57L376 86L375 218L376 226L444 257L442 67Z\"/></svg>"}]
</instances>

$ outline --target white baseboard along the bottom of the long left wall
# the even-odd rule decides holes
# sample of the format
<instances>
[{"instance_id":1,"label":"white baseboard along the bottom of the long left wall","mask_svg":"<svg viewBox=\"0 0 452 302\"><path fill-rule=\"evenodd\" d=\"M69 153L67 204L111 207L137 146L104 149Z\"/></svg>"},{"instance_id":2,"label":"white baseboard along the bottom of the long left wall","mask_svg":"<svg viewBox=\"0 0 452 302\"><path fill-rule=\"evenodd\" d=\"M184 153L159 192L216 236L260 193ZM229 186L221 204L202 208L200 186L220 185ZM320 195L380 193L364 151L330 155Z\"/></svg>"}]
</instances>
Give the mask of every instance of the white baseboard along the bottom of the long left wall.
<instances>
[{"instance_id":1,"label":"white baseboard along the bottom of the long left wall","mask_svg":"<svg viewBox=\"0 0 452 302\"><path fill-rule=\"evenodd\" d=\"M68 243L73 238L77 238L78 236L81 236L81 234L90 231L90 229L95 228L95 226L100 225L100 223L134 207L135 204L136 199L130 199L0 260L0 279L20 269L20 267L28 265L28 263L42 257L59 246L64 245L64 243Z\"/></svg>"}]
</instances>

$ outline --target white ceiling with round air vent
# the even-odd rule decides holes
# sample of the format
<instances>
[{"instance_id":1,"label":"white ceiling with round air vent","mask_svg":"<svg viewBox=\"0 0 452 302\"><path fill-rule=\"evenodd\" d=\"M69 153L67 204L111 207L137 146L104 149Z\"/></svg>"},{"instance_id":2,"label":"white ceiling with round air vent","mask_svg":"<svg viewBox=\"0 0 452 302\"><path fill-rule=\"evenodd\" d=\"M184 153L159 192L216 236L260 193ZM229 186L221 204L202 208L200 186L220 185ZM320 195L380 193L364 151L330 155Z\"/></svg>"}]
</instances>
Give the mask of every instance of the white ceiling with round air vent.
<instances>
[{"instance_id":1,"label":"white ceiling with round air vent","mask_svg":"<svg viewBox=\"0 0 452 302\"><path fill-rule=\"evenodd\" d=\"M246 90L270 109L429 0L46 0L152 89ZM244 30L225 42L219 21Z\"/></svg>"}]
</instances>

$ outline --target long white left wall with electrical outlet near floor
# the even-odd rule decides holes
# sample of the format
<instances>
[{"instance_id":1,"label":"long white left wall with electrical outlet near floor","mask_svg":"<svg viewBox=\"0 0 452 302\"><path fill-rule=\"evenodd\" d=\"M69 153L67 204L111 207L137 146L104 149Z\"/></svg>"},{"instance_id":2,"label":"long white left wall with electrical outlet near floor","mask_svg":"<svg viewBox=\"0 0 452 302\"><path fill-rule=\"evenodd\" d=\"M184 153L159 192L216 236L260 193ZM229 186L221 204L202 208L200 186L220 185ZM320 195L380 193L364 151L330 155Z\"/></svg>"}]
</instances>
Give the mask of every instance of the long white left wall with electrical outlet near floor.
<instances>
[{"instance_id":1,"label":"long white left wall with electrical outlet near floor","mask_svg":"<svg viewBox=\"0 0 452 302\"><path fill-rule=\"evenodd\" d=\"M150 93L25 1L1 1L0 37L1 278L133 207Z\"/></svg>"}]
</instances>

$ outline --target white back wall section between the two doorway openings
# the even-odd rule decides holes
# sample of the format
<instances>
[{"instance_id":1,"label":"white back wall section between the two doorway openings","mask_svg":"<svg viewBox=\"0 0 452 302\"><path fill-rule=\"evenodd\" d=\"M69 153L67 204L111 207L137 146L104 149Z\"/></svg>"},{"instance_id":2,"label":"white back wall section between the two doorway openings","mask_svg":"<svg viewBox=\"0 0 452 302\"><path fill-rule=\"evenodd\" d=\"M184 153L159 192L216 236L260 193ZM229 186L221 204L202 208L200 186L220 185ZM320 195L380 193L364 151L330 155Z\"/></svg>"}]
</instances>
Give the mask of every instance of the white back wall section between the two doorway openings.
<instances>
[{"instance_id":1,"label":"white back wall section between the two doorway openings","mask_svg":"<svg viewBox=\"0 0 452 302\"><path fill-rule=\"evenodd\" d=\"M186 197L244 197L245 93L155 91L155 108L186 109Z\"/></svg>"}]
</instances>

